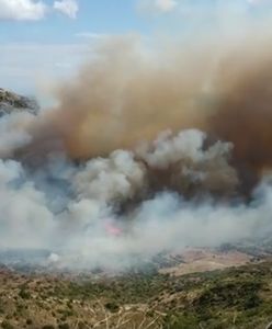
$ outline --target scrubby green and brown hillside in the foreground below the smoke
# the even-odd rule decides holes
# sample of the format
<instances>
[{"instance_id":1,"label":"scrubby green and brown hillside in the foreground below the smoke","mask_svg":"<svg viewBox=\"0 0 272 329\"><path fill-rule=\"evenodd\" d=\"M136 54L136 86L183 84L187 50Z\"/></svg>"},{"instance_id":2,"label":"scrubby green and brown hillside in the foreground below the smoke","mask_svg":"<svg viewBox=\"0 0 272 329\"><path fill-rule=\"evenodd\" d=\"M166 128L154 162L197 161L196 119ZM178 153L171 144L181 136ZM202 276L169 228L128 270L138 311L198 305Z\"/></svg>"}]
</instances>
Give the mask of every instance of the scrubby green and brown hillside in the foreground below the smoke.
<instances>
[{"instance_id":1,"label":"scrubby green and brown hillside in the foreground below the smoke","mask_svg":"<svg viewBox=\"0 0 272 329\"><path fill-rule=\"evenodd\" d=\"M3 329L265 328L272 320L272 260L170 275L156 266L109 276L20 273L2 266Z\"/></svg>"}]
</instances>

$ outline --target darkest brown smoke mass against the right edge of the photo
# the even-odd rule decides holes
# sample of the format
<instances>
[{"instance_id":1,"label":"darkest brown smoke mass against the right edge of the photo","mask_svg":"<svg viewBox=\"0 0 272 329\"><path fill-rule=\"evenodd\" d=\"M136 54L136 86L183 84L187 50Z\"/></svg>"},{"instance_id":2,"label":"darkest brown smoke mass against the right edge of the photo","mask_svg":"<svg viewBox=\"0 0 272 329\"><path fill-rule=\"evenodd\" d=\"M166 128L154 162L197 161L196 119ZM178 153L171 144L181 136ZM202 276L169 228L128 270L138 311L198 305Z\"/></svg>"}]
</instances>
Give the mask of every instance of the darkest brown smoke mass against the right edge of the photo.
<instances>
[{"instance_id":1,"label":"darkest brown smoke mass against the right edge of the photo","mask_svg":"<svg viewBox=\"0 0 272 329\"><path fill-rule=\"evenodd\" d=\"M212 133L235 145L236 161L256 170L271 167L272 59L233 80L209 123Z\"/></svg>"}]
</instances>

